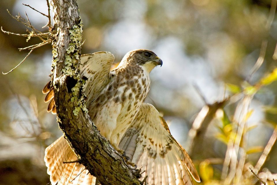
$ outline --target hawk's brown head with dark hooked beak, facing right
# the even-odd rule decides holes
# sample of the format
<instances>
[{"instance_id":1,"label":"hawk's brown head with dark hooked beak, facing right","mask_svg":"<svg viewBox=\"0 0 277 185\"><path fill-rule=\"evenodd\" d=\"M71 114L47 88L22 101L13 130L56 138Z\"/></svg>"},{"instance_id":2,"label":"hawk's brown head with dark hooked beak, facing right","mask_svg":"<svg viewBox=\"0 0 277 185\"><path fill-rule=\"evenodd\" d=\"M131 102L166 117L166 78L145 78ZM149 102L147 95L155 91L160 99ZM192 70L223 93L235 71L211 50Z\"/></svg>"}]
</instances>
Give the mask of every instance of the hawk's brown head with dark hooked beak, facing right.
<instances>
[{"instance_id":1,"label":"hawk's brown head with dark hooked beak, facing right","mask_svg":"<svg viewBox=\"0 0 277 185\"><path fill-rule=\"evenodd\" d=\"M133 63L141 66L143 70L148 73L160 65L162 66L162 60L153 52L147 49L136 49L129 51L121 60L121 63Z\"/></svg>"}]
</instances>

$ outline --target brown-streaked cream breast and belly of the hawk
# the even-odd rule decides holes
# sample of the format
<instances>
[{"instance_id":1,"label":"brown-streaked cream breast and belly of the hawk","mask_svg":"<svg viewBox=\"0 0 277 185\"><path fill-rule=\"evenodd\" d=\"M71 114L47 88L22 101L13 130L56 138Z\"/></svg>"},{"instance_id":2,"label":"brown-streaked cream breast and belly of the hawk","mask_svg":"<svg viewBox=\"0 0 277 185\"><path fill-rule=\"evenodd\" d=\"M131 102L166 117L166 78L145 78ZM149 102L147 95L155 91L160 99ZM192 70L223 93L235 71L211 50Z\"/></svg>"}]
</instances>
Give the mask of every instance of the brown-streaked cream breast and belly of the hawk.
<instances>
[{"instance_id":1,"label":"brown-streaked cream breast and belly of the hawk","mask_svg":"<svg viewBox=\"0 0 277 185\"><path fill-rule=\"evenodd\" d=\"M103 136L118 143L145 101L150 79L139 66L122 67L115 72L111 82L89 105L89 115Z\"/></svg>"}]
</instances>

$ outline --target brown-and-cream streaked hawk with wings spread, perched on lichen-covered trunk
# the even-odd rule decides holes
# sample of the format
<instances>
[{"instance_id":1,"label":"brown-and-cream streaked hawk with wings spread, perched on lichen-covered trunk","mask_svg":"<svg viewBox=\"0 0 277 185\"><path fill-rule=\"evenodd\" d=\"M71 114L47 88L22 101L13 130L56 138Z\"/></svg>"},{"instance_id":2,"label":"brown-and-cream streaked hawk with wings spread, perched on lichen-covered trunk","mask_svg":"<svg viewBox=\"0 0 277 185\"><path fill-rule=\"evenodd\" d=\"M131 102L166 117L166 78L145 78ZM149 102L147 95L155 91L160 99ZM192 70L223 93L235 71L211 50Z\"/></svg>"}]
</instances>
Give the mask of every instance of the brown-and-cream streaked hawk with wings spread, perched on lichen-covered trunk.
<instances>
[{"instance_id":1,"label":"brown-and-cream streaked hawk with wings spread, perched on lichen-covered trunk","mask_svg":"<svg viewBox=\"0 0 277 185\"><path fill-rule=\"evenodd\" d=\"M87 77L84 87L87 108L100 134L110 140L119 152L126 152L148 176L149 184L193 184L200 182L198 173L184 150L171 136L166 122L151 104L144 103L149 73L162 60L149 50L128 52L117 68L111 69L113 54L97 52L81 56L81 76ZM56 112L53 87L48 83L45 102L48 112ZM52 184L95 184L96 178L79 163L67 141L61 136L45 150L44 160Z\"/></svg>"}]
</instances>

